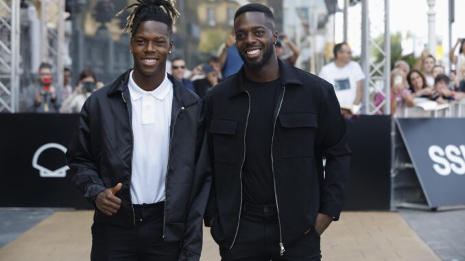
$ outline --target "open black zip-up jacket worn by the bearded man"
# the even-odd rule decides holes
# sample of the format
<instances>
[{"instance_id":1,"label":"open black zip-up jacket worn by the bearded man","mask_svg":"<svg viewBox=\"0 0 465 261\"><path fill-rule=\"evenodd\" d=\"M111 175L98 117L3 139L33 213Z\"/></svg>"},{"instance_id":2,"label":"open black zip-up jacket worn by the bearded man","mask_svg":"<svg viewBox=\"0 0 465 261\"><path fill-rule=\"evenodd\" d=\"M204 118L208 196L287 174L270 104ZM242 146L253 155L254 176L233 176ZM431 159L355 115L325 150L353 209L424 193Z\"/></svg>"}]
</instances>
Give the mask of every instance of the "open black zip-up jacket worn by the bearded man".
<instances>
[{"instance_id":1,"label":"open black zip-up jacket worn by the bearded man","mask_svg":"<svg viewBox=\"0 0 465 261\"><path fill-rule=\"evenodd\" d=\"M348 179L350 149L346 122L333 86L279 60L281 88L272 129L272 175L281 251L313 227L318 212L339 218ZM239 229L250 96L244 68L204 98L213 167L205 223L222 247L232 248ZM325 175L322 158L326 158ZM278 246L276 246L278 247Z\"/></svg>"}]
</instances>

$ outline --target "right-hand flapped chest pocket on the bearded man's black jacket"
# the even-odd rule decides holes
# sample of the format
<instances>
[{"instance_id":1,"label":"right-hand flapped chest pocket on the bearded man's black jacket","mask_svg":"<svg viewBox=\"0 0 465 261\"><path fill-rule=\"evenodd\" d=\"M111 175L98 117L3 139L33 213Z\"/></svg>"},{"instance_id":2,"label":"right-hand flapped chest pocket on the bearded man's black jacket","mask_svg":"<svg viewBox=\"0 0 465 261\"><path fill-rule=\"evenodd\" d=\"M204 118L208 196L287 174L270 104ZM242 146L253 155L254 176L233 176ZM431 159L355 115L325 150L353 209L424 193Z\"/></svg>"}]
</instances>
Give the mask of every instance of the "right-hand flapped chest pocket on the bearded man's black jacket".
<instances>
[{"instance_id":1,"label":"right-hand flapped chest pocket on the bearded man's black jacket","mask_svg":"<svg viewBox=\"0 0 465 261\"><path fill-rule=\"evenodd\" d=\"M283 158L313 156L317 115L308 112L280 114L281 155Z\"/></svg>"}]
</instances>

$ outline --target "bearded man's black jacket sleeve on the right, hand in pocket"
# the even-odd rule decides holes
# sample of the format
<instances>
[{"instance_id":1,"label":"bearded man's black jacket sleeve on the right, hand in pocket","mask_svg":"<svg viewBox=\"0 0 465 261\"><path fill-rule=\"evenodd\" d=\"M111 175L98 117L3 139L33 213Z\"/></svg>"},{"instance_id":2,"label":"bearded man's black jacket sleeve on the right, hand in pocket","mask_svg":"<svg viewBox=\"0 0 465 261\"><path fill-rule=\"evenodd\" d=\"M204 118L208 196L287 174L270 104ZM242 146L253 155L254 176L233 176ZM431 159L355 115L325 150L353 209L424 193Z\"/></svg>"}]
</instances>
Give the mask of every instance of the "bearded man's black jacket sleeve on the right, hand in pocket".
<instances>
[{"instance_id":1,"label":"bearded man's black jacket sleeve on the right, hand in pocket","mask_svg":"<svg viewBox=\"0 0 465 261\"><path fill-rule=\"evenodd\" d=\"M320 175L320 213L339 219L348 182L350 149L346 121L341 115L333 86L322 81L316 152L326 158L324 177Z\"/></svg>"}]
</instances>

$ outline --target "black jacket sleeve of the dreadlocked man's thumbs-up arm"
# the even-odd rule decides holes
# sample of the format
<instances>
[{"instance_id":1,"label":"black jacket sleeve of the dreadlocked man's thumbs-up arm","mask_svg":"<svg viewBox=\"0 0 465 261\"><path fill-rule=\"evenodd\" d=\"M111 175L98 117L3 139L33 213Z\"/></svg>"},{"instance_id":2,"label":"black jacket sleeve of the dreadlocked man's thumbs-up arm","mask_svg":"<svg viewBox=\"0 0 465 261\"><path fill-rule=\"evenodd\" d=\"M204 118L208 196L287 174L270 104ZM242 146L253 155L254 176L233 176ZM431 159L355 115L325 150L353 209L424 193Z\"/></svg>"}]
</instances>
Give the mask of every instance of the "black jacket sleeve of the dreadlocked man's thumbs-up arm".
<instances>
[{"instance_id":1,"label":"black jacket sleeve of the dreadlocked man's thumbs-up arm","mask_svg":"<svg viewBox=\"0 0 465 261\"><path fill-rule=\"evenodd\" d=\"M98 168L91 151L91 128L89 124L89 104L87 99L81 110L79 128L73 134L66 153L67 164L73 175L73 182L89 202L94 203L95 197L106 189L99 177Z\"/></svg>"}]
</instances>

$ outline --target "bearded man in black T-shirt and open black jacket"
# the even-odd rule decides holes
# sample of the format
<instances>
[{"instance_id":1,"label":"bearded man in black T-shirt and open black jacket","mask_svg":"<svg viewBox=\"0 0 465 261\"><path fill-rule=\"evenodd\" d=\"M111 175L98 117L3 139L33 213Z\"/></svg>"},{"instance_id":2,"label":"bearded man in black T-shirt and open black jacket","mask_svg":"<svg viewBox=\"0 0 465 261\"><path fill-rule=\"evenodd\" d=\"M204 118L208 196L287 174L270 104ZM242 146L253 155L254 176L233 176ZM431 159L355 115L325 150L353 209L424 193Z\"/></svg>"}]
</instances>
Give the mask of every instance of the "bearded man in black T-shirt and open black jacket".
<instances>
[{"instance_id":1,"label":"bearded man in black T-shirt and open black jacket","mask_svg":"<svg viewBox=\"0 0 465 261\"><path fill-rule=\"evenodd\" d=\"M243 67L204 98L213 163L206 225L224 261L320 260L350 154L334 88L277 58L265 5L239 8L234 30Z\"/></svg>"}]
</instances>

